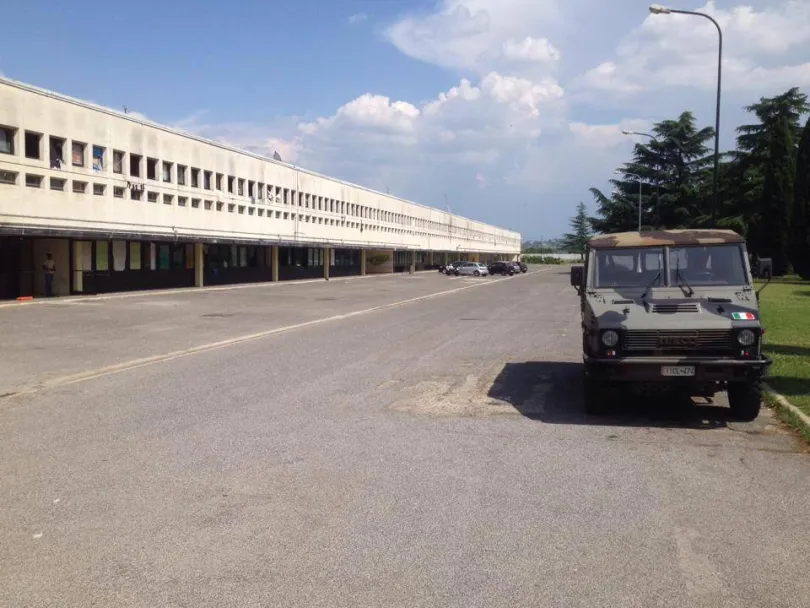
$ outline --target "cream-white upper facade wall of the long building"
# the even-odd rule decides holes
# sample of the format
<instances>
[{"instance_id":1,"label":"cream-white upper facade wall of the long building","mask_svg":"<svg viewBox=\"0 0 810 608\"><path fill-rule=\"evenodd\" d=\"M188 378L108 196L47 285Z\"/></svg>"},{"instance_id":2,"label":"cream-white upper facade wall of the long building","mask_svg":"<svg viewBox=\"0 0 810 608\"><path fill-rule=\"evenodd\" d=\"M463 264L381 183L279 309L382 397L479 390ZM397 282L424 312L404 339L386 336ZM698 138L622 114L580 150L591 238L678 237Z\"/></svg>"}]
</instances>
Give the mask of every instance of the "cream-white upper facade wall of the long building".
<instances>
[{"instance_id":1,"label":"cream-white upper facade wall of the long building","mask_svg":"<svg viewBox=\"0 0 810 608\"><path fill-rule=\"evenodd\" d=\"M517 253L520 249L517 232L299 170L6 79L0 79L0 126L16 129L15 153L0 154L0 171L17 173L16 185L0 184L0 224L8 226L59 228L65 234L93 230L113 238L116 232L141 232L153 236L266 240L268 244L283 240L497 253ZM26 158L26 130L42 134L39 159ZM50 166L49 136L66 140L66 162L61 168ZM73 141L86 144L83 167L71 163ZM104 166L99 171L92 167L93 145L104 148ZM114 150L126 153L122 174L113 171ZM139 178L129 175L131 154L142 157ZM146 179L147 158L159 161L156 180ZM172 163L169 183L162 180L163 161ZM178 165L187 167L185 185L177 183ZM192 168L199 169L196 188L190 185ZM203 188L205 171L211 172L210 190ZM42 176L42 187L26 187L26 174ZM216 189L217 174L223 176L222 190ZM249 180L263 184L263 197L252 202L247 192L239 196L236 180L234 193L228 193L229 176L245 180L246 189ZM51 178L66 179L65 191L51 190ZM75 181L87 182L85 193L72 191ZM94 184L104 186L103 195L93 194ZM133 184L145 188L140 201L132 199ZM124 188L123 198L114 196L116 187ZM284 189L288 192L288 204L275 198L276 194L283 198ZM272 192L269 199L268 190ZM304 194L305 201L309 198L310 207L292 204L293 191ZM158 202L148 202L150 192L158 195ZM164 204L164 195L172 197L171 204ZM179 205L180 197L187 199L185 206ZM199 199L199 208L192 207L192 199ZM323 202L318 209L318 202L324 199L326 210ZM206 201L210 201L211 210L205 209ZM332 212L333 201L347 208L362 207L365 217ZM218 203L220 211L216 210ZM233 205L232 213L228 211L229 205ZM294 216L298 217L293 219Z\"/></svg>"}]
</instances>

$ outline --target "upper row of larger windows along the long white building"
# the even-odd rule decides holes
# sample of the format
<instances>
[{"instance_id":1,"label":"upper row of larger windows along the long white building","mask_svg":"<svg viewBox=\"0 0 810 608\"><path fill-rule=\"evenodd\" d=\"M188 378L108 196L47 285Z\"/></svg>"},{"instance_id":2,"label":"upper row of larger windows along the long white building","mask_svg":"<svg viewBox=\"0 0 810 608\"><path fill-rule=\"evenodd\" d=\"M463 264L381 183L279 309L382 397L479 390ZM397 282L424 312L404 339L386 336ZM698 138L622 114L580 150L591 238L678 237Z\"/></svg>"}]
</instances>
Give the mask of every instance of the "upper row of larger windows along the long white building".
<instances>
[{"instance_id":1,"label":"upper row of larger windows along the long white building","mask_svg":"<svg viewBox=\"0 0 810 608\"><path fill-rule=\"evenodd\" d=\"M15 127L0 125L0 153L17 154L16 139L17 131ZM43 147L47 143L48 160L52 169L61 169L65 161L65 151L67 140L63 137L49 135L47 142L45 135L34 131L24 131L23 148L26 158L32 160L44 160L45 151ZM89 154L89 159L88 159ZM85 142L71 140L70 142L70 163L73 167L87 167L89 165L93 171L102 172L107 166L108 151L105 147L87 144ZM144 157L140 154L127 153L122 150L112 150L112 172L119 175L129 175L133 178L140 178L143 175ZM264 202L285 205L296 205L305 209L317 210L325 213L336 213L344 216L358 217L371 221L399 224L406 226L404 232L421 235L443 235L447 231L451 234L462 236L468 240L490 240L492 235L479 230L460 228L412 217L405 214L394 213L347 203L337 199L323 197L315 194L296 192L289 188L264 184L256 180L246 180L232 175L224 175L212 171L201 170L197 167L189 167L179 163L174 163L157 158L146 157L145 176L147 180L162 181L164 183L176 183L181 186L191 188L202 188L204 190L223 191L223 187L229 194L249 197L252 203ZM2 172L0 172L2 173ZM8 175L8 172L5 172ZM158 179L158 175L160 179ZM2 181L2 175L0 175ZM9 183L6 181L5 183ZM81 182L79 182L81 183ZM397 230L399 231L399 230ZM517 242L514 238L501 237L505 242Z\"/></svg>"}]
</instances>

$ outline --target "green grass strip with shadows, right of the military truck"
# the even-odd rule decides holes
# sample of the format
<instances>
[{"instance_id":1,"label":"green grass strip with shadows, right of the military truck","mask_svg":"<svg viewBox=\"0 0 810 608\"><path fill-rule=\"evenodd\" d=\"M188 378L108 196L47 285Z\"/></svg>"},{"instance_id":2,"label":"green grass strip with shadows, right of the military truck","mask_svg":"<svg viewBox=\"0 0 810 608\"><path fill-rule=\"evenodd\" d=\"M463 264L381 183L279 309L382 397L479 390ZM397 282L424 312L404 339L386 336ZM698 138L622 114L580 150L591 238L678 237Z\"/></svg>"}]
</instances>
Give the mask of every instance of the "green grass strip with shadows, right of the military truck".
<instances>
[{"instance_id":1,"label":"green grass strip with shadows, right of the military truck","mask_svg":"<svg viewBox=\"0 0 810 608\"><path fill-rule=\"evenodd\" d=\"M762 292L760 311L765 352L773 358L767 382L810 414L810 282L774 279Z\"/></svg>"}]
</instances>

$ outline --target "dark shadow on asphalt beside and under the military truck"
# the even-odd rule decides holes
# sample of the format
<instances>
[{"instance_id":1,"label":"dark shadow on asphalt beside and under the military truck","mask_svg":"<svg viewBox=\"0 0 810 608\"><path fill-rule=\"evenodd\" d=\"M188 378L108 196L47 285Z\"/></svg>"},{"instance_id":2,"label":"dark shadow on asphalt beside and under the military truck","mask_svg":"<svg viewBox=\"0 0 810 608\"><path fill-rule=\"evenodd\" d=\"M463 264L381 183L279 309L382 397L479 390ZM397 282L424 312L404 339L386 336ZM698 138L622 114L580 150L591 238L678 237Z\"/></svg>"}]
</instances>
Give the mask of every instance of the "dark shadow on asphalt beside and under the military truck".
<instances>
[{"instance_id":1,"label":"dark shadow on asphalt beside and under the military truck","mask_svg":"<svg viewBox=\"0 0 810 608\"><path fill-rule=\"evenodd\" d=\"M614 403L610 414L589 416L583 406L582 364L568 361L507 363L488 396L509 403L526 418L548 424L716 429L732 421L722 406L631 393Z\"/></svg>"}]
</instances>

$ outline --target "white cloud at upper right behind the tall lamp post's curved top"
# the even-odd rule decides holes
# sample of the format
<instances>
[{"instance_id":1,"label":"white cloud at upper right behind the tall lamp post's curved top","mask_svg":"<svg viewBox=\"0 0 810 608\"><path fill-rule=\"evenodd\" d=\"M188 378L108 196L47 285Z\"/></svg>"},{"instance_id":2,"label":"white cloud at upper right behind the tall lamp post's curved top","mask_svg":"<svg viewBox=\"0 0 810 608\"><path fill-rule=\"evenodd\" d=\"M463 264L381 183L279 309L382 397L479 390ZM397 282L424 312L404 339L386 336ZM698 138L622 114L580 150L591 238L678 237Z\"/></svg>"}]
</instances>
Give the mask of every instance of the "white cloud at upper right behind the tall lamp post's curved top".
<instances>
[{"instance_id":1,"label":"white cloud at upper right behind the tall lamp post's curved top","mask_svg":"<svg viewBox=\"0 0 810 608\"><path fill-rule=\"evenodd\" d=\"M708 2L698 9L723 31L725 91L770 94L810 84L809 2L789 0L761 10L718 9ZM619 42L616 59L588 70L572 88L619 97L661 88L710 90L717 86L717 53L717 30L708 20L649 15Z\"/></svg>"}]
</instances>

